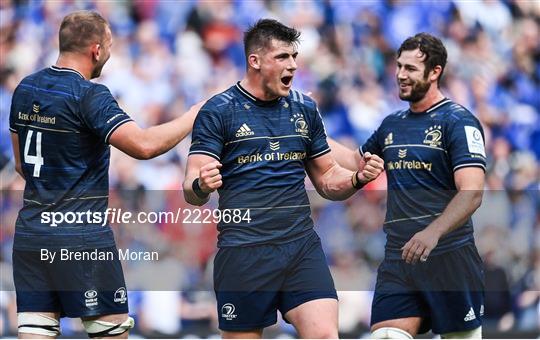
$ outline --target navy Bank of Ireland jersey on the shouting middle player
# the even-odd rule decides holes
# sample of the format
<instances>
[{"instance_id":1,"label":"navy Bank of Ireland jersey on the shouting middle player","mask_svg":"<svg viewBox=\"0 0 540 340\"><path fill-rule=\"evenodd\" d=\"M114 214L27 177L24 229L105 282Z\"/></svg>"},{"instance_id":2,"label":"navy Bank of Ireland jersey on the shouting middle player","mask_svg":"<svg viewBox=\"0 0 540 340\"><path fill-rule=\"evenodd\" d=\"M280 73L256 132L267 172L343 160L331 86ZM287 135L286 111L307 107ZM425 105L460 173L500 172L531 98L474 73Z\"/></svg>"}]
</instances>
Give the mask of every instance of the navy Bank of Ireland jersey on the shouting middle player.
<instances>
[{"instance_id":1,"label":"navy Bank of Ireland jersey on the shouting middle player","mask_svg":"<svg viewBox=\"0 0 540 340\"><path fill-rule=\"evenodd\" d=\"M221 221L218 246L284 243L312 230L305 162L328 152L317 106L298 91L261 101L237 83L210 99L195 120L190 155L223 164L220 210L251 218Z\"/></svg>"}]
</instances>

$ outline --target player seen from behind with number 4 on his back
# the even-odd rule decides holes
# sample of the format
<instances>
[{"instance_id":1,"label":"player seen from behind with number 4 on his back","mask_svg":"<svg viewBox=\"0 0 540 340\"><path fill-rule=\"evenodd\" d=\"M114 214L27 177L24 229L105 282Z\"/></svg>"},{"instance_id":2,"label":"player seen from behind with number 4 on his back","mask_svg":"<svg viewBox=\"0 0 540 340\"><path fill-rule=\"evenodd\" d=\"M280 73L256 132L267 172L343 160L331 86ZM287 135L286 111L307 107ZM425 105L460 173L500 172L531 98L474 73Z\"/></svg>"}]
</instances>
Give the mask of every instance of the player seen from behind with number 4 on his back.
<instances>
[{"instance_id":1,"label":"player seen from behind with number 4 on his back","mask_svg":"<svg viewBox=\"0 0 540 340\"><path fill-rule=\"evenodd\" d=\"M19 336L54 338L59 318L80 317L90 337L127 337L127 292L108 223L42 223L44 212L100 212L108 205L110 147L149 159L190 131L202 103L168 123L141 129L99 77L113 43L96 12L67 15L56 65L24 78L10 112L17 172L26 180L13 246ZM106 216L106 215L105 215ZM109 261L45 261L43 252L115 254Z\"/></svg>"}]
</instances>

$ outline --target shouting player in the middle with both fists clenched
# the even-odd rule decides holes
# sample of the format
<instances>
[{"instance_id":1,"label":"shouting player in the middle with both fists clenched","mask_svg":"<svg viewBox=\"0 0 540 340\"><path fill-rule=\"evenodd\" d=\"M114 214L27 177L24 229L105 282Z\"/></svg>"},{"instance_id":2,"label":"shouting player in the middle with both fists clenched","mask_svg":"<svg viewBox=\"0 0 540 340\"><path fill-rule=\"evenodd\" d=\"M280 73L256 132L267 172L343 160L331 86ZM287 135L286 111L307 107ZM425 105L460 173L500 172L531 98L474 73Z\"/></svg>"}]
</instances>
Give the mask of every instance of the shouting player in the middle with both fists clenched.
<instances>
[{"instance_id":1,"label":"shouting player in the middle with both fists clenched","mask_svg":"<svg viewBox=\"0 0 540 340\"><path fill-rule=\"evenodd\" d=\"M216 189L232 220L218 224L214 290L225 338L260 338L277 311L302 338L336 338L337 297L304 186L343 200L383 169L365 153L352 172L331 157L313 99L292 89L300 33L262 19L244 35L246 76L210 99L195 121L184 195ZM236 220L235 220L236 218Z\"/></svg>"}]
</instances>

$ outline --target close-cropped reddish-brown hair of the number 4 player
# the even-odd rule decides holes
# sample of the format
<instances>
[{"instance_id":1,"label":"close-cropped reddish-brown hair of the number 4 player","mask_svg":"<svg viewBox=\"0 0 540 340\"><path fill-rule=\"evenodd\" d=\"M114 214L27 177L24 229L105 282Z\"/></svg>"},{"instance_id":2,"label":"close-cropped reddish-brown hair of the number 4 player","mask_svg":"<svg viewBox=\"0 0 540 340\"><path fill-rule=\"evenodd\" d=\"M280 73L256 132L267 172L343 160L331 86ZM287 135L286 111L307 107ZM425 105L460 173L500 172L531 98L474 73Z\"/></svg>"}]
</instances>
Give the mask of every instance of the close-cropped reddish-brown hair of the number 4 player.
<instances>
[{"instance_id":1,"label":"close-cropped reddish-brown hair of the number 4 player","mask_svg":"<svg viewBox=\"0 0 540 340\"><path fill-rule=\"evenodd\" d=\"M92 43L102 43L108 26L107 20L94 11L66 15L58 33L60 53L82 52Z\"/></svg>"}]
</instances>

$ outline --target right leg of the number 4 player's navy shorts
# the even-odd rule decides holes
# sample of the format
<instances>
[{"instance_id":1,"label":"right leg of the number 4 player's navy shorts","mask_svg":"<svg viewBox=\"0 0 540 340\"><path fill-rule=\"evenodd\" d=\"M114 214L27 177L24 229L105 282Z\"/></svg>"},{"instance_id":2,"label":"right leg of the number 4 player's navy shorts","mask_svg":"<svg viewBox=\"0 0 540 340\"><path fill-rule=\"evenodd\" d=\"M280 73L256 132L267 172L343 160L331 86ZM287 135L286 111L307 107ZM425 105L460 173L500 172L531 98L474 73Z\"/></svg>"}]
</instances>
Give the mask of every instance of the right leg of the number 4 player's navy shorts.
<instances>
[{"instance_id":1,"label":"right leg of the number 4 player's navy shorts","mask_svg":"<svg viewBox=\"0 0 540 340\"><path fill-rule=\"evenodd\" d=\"M107 257L55 263L51 274L63 316L95 317L128 312L126 284L116 247L97 251Z\"/></svg>"}]
</instances>

